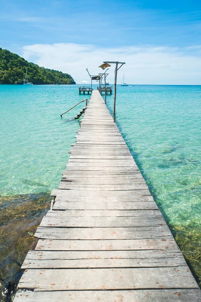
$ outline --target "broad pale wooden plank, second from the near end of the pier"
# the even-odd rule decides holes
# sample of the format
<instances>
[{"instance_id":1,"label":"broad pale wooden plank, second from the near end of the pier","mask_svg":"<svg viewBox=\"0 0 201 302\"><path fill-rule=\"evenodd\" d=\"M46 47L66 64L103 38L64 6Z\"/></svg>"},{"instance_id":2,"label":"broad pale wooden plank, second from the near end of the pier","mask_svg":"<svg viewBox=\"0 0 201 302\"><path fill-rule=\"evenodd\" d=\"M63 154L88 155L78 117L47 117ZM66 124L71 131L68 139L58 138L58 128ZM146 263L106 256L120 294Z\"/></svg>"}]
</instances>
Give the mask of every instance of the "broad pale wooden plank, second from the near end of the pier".
<instances>
[{"instance_id":1,"label":"broad pale wooden plank, second from the near end of the pier","mask_svg":"<svg viewBox=\"0 0 201 302\"><path fill-rule=\"evenodd\" d=\"M186 287L198 289L189 269L184 266L178 268L29 269L25 270L18 287L35 291Z\"/></svg>"}]
</instances>

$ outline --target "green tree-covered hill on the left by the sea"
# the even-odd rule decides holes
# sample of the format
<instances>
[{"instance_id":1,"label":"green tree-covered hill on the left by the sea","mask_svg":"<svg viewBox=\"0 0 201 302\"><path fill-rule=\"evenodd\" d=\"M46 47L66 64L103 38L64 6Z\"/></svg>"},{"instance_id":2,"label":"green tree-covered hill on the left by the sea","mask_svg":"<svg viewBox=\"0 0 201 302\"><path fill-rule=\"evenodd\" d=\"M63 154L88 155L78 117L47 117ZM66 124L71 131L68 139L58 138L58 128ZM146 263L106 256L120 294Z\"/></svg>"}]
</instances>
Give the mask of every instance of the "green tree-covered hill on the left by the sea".
<instances>
[{"instance_id":1,"label":"green tree-covered hill on the left by the sea","mask_svg":"<svg viewBox=\"0 0 201 302\"><path fill-rule=\"evenodd\" d=\"M0 48L0 84L23 84L25 73L29 82L39 84L76 84L71 75L29 63L21 56Z\"/></svg>"}]
</instances>

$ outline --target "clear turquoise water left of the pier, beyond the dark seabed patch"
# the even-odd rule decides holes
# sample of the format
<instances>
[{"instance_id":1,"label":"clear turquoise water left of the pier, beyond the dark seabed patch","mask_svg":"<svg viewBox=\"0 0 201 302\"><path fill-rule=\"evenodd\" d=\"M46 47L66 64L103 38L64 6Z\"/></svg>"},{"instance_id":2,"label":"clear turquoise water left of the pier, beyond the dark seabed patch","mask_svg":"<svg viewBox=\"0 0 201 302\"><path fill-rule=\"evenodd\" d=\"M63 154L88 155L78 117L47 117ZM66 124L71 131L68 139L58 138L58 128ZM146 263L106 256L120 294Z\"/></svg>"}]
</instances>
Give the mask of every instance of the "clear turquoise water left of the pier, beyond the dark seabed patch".
<instances>
[{"instance_id":1,"label":"clear turquoise water left of the pier, beyond the dark seabed patch","mask_svg":"<svg viewBox=\"0 0 201 302\"><path fill-rule=\"evenodd\" d=\"M75 142L81 103L77 86L0 86L1 195L50 191L58 185ZM55 91L55 93L54 93Z\"/></svg>"}]
</instances>

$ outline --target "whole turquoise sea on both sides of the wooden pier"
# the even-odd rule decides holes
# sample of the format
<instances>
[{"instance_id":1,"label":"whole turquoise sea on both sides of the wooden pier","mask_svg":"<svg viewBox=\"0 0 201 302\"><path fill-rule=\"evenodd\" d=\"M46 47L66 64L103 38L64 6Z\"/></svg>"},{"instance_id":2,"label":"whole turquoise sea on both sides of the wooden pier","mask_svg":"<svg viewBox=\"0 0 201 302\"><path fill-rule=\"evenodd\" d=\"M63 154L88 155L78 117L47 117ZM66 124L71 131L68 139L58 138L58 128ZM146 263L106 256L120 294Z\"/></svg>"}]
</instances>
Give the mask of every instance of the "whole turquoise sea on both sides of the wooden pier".
<instances>
[{"instance_id":1,"label":"whole turquoise sea on both sides of the wooden pier","mask_svg":"<svg viewBox=\"0 0 201 302\"><path fill-rule=\"evenodd\" d=\"M96 89L97 85L93 88ZM50 208L90 96L78 85L0 85L0 291L10 301L20 266ZM114 96L107 96L113 114ZM116 122L198 282L201 279L201 86L117 86Z\"/></svg>"}]
</instances>

